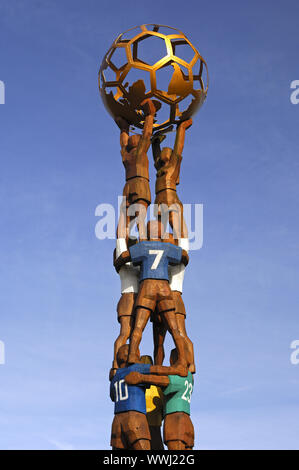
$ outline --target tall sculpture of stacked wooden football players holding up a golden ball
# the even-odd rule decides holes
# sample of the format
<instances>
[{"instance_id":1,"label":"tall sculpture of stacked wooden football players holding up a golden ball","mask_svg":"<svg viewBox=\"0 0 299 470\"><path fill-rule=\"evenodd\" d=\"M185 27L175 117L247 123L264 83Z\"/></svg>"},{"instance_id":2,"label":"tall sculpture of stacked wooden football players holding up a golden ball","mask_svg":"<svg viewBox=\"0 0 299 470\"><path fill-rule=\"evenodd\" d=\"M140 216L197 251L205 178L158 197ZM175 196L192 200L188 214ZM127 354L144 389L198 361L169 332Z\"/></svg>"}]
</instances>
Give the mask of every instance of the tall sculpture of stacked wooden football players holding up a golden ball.
<instances>
[{"instance_id":1,"label":"tall sculpture of stacked wooden football players holding up a golden ball","mask_svg":"<svg viewBox=\"0 0 299 470\"><path fill-rule=\"evenodd\" d=\"M157 42L161 57L152 63L152 58L143 57L143 45L155 47ZM169 73L164 84L161 72ZM111 446L162 450L164 417L163 436L168 449L192 449L190 399L196 367L182 298L189 238L177 185L186 130L207 95L206 62L181 31L144 24L115 39L103 59L99 85L104 105L120 129L125 168L113 254L121 297L117 305L120 331L109 374L115 413ZM166 134L175 126L173 148L161 149ZM136 128L141 130L139 134ZM155 220L146 223L151 204L150 146L156 169ZM134 224L137 239L131 237ZM166 233L168 225L171 233ZM154 364L150 356L140 359L139 352L149 319L153 324ZM167 331L175 344L169 366L163 365Z\"/></svg>"}]
</instances>

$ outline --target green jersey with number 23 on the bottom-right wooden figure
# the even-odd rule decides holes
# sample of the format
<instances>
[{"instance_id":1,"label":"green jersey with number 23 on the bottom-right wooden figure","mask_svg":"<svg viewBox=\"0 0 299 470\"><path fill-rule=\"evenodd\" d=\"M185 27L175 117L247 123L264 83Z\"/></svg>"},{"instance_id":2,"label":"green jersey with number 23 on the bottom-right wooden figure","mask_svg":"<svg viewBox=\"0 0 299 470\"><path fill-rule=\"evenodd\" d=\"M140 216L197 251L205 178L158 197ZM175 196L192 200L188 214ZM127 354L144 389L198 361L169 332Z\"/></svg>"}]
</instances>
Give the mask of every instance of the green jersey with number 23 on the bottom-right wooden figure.
<instances>
[{"instance_id":1,"label":"green jersey with number 23 on the bottom-right wooden figure","mask_svg":"<svg viewBox=\"0 0 299 470\"><path fill-rule=\"evenodd\" d=\"M188 372L187 377L169 375L169 385L164 390L164 415L183 411L190 415L190 401L193 392L193 375Z\"/></svg>"}]
</instances>

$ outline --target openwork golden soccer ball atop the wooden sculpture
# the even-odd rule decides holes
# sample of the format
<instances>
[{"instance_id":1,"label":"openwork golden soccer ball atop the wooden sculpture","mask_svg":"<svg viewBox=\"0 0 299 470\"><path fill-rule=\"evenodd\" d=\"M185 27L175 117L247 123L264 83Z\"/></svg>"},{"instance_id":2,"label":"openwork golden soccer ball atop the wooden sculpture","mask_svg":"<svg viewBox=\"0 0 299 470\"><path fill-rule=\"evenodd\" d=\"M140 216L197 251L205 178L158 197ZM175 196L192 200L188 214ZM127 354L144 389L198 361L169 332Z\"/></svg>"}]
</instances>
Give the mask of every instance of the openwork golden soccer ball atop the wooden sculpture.
<instances>
[{"instance_id":1,"label":"openwork golden soccer ball atop the wooden sculpture","mask_svg":"<svg viewBox=\"0 0 299 470\"><path fill-rule=\"evenodd\" d=\"M163 130L199 110L208 91L207 64L181 31L141 25L113 42L99 71L99 88L111 116L140 129L142 101L159 101L154 130Z\"/></svg>"}]
</instances>

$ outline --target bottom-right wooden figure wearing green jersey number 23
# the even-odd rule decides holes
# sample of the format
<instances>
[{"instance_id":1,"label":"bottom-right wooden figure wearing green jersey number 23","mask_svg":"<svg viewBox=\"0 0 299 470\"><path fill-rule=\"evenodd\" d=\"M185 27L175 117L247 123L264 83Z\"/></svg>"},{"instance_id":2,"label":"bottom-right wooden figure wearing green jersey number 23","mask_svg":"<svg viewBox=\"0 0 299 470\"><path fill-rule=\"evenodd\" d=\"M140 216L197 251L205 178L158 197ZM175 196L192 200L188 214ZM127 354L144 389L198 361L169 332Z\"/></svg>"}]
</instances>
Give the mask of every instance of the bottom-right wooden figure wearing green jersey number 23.
<instances>
[{"instance_id":1,"label":"bottom-right wooden figure wearing green jersey number 23","mask_svg":"<svg viewBox=\"0 0 299 470\"><path fill-rule=\"evenodd\" d=\"M171 351L170 364L177 362L177 351ZM188 372L186 377L169 374L168 367L160 367L165 374L157 376L152 374L143 375L132 372L125 377L130 385L155 384L163 389L164 394L164 443L168 450L191 450L194 446L194 427L190 418L190 401L193 392L193 375Z\"/></svg>"}]
</instances>

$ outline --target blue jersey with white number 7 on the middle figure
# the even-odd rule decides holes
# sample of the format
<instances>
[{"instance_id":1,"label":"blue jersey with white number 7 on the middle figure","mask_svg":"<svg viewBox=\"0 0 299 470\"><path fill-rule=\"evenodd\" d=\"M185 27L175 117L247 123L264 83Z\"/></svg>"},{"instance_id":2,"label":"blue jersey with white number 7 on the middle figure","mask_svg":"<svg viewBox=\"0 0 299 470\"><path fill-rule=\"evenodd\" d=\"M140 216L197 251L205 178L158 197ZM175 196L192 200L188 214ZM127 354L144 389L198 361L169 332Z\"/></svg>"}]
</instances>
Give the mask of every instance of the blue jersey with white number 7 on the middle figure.
<instances>
[{"instance_id":1,"label":"blue jersey with white number 7 on the middle figure","mask_svg":"<svg viewBox=\"0 0 299 470\"><path fill-rule=\"evenodd\" d=\"M135 266L140 265L140 281L143 279L168 278L168 265L180 264L182 248L172 243L145 241L130 247L130 255Z\"/></svg>"}]
</instances>

